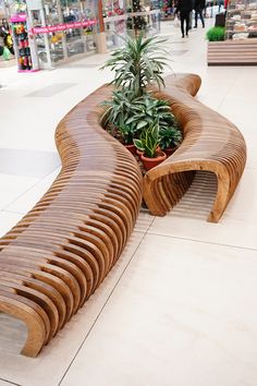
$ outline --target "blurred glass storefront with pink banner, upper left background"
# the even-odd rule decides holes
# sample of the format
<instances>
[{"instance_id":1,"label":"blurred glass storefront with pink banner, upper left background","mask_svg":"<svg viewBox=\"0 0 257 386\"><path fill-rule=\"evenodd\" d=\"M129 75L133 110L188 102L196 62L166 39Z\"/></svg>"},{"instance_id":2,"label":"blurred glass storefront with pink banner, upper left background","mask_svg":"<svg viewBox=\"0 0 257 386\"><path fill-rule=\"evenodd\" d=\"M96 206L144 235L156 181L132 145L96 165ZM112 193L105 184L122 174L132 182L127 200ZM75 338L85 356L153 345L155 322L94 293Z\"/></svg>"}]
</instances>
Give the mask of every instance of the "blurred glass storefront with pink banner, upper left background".
<instances>
[{"instance_id":1,"label":"blurred glass storefront with pink banner, upper left background","mask_svg":"<svg viewBox=\"0 0 257 386\"><path fill-rule=\"evenodd\" d=\"M101 51L102 31L108 50L120 46L127 31L158 33L159 8L156 0L0 0L0 25L9 23L19 70L36 71ZM7 46L2 39L0 46ZM12 57L1 55L1 61Z\"/></svg>"}]
</instances>

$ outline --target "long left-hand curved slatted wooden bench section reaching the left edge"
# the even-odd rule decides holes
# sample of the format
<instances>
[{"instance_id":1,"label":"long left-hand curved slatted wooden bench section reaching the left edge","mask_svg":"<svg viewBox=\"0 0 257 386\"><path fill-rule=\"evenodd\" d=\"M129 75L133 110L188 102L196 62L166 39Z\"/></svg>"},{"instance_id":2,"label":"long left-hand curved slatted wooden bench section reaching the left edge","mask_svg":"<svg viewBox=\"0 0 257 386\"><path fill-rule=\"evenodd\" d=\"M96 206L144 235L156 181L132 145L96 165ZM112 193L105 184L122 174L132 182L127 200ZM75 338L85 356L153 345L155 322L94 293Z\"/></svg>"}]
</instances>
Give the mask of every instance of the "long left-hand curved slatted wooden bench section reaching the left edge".
<instances>
[{"instance_id":1,"label":"long left-hand curved slatted wooden bench section reaching the left edge","mask_svg":"<svg viewBox=\"0 0 257 386\"><path fill-rule=\"evenodd\" d=\"M99 88L60 122L60 174L0 240L0 312L26 324L25 355L36 357L96 290L138 215L137 162L98 122L110 93Z\"/></svg>"}]
</instances>

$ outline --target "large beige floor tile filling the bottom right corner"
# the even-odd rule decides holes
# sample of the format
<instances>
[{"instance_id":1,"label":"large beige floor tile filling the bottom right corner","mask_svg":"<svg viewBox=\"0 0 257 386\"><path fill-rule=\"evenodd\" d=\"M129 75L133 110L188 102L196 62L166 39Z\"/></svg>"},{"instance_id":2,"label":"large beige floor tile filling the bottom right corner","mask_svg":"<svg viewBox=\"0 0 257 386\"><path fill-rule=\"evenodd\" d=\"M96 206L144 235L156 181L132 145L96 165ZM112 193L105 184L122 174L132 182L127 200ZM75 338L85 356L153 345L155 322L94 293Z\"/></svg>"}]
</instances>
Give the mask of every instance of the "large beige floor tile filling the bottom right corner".
<instances>
[{"instance_id":1,"label":"large beige floor tile filling the bottom right corner","mask_svg":"<svg viewBox=\"0 0 257 386\"><path fill-rule=\"evenodd\" d=\"M257 252L147 236L62 386L255 386Z\"/></svg>"}]
</instances>

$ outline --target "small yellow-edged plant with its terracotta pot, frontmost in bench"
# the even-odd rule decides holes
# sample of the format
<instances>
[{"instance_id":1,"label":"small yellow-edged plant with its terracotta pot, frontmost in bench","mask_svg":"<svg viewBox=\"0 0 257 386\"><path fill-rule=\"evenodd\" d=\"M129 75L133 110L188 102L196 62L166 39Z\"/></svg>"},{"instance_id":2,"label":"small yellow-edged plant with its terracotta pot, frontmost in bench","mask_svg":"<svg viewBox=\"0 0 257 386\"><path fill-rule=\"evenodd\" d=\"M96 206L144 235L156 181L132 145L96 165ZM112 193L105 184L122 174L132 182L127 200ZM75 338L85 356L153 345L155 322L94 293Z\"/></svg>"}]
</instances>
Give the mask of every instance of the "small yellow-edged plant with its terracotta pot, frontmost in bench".
<instances>
[{"instance_id":1,"label":"small yellow-edged plant with its terracotta pot, frontmost in bench","mask_svg":"<svg viewBox=\"0 0 257 386\"><path fill-rule=\"evenodd\" d=\"M167 155L160 150L159 122L155 120L145 131L139 140L134 140L135 146L143 152L142 161L146 170L150 170L162 162Z\"/></svg>"}]
</instances>

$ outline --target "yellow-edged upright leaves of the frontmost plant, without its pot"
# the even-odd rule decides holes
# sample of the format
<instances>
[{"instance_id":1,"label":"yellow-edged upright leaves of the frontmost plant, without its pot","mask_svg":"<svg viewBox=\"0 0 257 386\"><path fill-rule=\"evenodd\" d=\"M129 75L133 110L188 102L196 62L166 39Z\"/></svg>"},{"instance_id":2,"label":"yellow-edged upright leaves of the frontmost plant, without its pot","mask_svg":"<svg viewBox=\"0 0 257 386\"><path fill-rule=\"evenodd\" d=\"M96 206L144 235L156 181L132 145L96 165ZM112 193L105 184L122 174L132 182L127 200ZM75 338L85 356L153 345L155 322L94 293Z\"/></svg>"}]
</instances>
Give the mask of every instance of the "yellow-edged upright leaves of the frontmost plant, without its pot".
<instances>
[{"instance_id":1,"label":"yellow-edged upright leaves of the frontmost plant, without its pot","mask_svg":"<svg viewBox=\"0 0 257 386\"><path fill-rule=\"evenodd\" d=\"M142 132L139 140L134 140L134 144L138 150L144 152L146 157L156 157L160 144L158 119Z\"/></svg>"}]
</instances>

